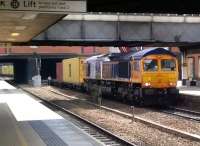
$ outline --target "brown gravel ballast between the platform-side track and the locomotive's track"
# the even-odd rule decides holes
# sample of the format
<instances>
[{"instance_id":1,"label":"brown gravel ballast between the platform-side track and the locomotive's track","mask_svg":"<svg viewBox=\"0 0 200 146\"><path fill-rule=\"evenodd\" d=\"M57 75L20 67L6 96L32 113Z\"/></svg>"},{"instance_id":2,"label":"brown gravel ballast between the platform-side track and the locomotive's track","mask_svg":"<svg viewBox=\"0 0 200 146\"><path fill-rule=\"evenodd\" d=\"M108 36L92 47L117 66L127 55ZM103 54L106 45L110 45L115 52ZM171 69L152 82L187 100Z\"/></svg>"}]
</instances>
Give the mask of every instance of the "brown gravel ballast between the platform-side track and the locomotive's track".
<instances>
[{"instance_id":1,"label":"brown gravel ballast between the platform-side track and the locomotive's track","mask_svg":"<svg viewBox=\"0 0 200 146\"><path fill-rule=\"evenodd\" d=\"M194 146L200 145L198 142L190 141L187 139L183 139L181 137L177 137L173 134L168 134L162 132L160 130L148 127L147 125L131 122L130 119L124 118L120 115L105 111L99 110L96 107L80 102L78 98L76 100L72 100L70 98L66 98L60 95L57 95L48 90L57 90L52 87L42 87L42 88L32 88L23 86L26 90L30 92L42 96L45 99L53 100L56 103L62 104L67 109L79 114L80 116L95 122L96 124L110 130L118 136L123 137L124 139L129 140L130 142L137 142L139 145L152 145L152 146ZM57 90L58 91L58 90ZM61 91L61 90L59 90ZM62 90L63 91L63 90ZM81 97L81 98L90 98L89 96L77 93L75 91L66 90L63 91L67 93L67 95ZM104 100L104 105L109 106L111 108L117 108L118 110L129 112L130 108L128 105L111 102ZM120 109L119 109L120 107ZM190 133L199 134L200 133L200 124L198 122L185 120L182 118L170 116L167 114L154 112L150 110L146 110L143 108L136 108L135 112L138 116L152 120L154 122L163 124L165 126L170 126L176 129L185 130ZM142 141L142 142L141 142Z\"/></svg>"}]
</instances>

